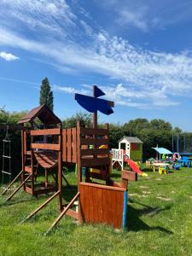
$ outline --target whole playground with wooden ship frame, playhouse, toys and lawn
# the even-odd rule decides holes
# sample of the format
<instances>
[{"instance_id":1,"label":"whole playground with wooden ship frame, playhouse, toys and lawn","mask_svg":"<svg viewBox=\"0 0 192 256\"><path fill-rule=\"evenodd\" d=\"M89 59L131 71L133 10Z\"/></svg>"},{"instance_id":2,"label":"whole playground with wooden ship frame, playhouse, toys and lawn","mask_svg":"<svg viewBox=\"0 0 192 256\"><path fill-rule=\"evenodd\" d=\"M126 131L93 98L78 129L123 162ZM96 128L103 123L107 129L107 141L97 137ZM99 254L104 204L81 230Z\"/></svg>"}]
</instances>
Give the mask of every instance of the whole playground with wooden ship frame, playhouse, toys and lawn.
<instances>
[{"instance_id":1,"label":"whole playground with wooden ship frame, playhouse, toys and lawn","mask_svg":"<svg viewBox=\"0 0 192 256\"><path fill-rule=\"evenodd\" d=\"M75 94L92 127L79 120L63 129L46 105L0 126L2 255L191 255L191 160L155 147L156 158L142 164L138 137L109 148L109 125L98 126L97 112L113 113L114 103L103 95L96 85L93 96ZM34 128L37 118L43 129ZM11 129L21 137L14 179Z\"/></svg>"}]
</instances>

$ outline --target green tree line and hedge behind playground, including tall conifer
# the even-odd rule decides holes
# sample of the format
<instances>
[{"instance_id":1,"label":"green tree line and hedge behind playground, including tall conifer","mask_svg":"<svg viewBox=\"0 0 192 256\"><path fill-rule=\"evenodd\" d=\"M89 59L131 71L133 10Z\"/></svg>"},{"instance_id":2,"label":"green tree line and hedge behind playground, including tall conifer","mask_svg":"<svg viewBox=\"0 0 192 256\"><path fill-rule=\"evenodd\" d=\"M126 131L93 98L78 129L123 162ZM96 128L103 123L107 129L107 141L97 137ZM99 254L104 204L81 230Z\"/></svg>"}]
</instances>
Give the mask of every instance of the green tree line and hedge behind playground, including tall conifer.
<instances>
[{"instance_id":1,"label":"green tree line and hedge behind playground, including tall conifer","mask_svg":"<svg viewBox=\"0 0 192 256\"><path fill-rule=\"evenodd\" d=\"M54 96L49 85L49 79L45 78L42 81L40 96L40 105L46 104L53 110L54 108ZM0 125L16 125L17 121L26 114L27 111L23 112L12 112L10 113L4 108L0 108ZM83 125L91 127L92 115L90 113L79 112L74 114L72 117L62 120L63 128L75 127L77 121L81 120ZM39 122L37 123L39 127ZM100 124L102 127L103 124ZM154 156L154 149L157 145L159 147L167 148L172 151L172 137L177 137L177 134L183 134L188 138L189 150L192 152L192 133L183 133L179 127L172 127L172 124L166 122L163 119L131 119L125 124L109 124L110 132L110 148L118 148L118 141L121 137L132 136L139 137L143 141L143 160ZM3 138L5 137L6 131L0 132L0 168L2 166L3 154ZM20 131L9 131L9 138L11 140L11 151L12 151L12 162L14 166L12 169L20 169ZM186 143L185 140L183 143ZM177 142L174 141L174 148L177 148Z\"/></svg>"}]
</instances>

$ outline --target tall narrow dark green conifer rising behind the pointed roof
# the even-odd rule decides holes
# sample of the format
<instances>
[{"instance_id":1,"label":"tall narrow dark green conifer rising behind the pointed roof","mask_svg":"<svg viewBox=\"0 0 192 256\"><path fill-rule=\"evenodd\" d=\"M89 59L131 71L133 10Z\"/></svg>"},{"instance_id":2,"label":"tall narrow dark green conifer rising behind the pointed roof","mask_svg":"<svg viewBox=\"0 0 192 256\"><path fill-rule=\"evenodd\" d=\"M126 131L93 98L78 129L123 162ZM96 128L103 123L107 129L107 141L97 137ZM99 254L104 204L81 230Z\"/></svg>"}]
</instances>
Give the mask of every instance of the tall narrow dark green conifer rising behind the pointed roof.
<instances>
[{"instance_id":1,"label":"tall narrow dark green conifer rising behind the pointed roof","mask_svg":"<svg viewBox=\"0 0 192 256\"><path fill-rule=\"evenodd\" d=\"M50 90L49 80L47 78L41 84L39 103L40 105L46 104L51 110L54 108L53 91Z\"/></svg>"}]
</instances>

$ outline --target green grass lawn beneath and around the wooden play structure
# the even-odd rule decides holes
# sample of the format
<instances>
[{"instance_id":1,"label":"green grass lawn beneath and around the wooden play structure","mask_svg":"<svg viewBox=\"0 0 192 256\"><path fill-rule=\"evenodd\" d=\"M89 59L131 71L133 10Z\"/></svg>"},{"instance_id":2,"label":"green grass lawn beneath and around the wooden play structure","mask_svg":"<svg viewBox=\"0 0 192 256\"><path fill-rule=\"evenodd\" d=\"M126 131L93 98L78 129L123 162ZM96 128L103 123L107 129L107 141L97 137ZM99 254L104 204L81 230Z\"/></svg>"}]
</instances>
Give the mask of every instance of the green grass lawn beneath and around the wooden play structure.
<instances>
[{"instance_id":1,"label":"green grass lawn beneath and around the wooden play structure","mask_svg":"<svg viewBox=\"0 0 192 256\"><path fill-rule=\"evenodd\" d=\"M119 172L114 172L119 179ZM67 172L73 185L76 177ZM73 196L64 188L65 201ZM0 255L192 255L192 169L159 175L148 172L129 185L127 228L113 230L77 224L64 217L49 236L57 216L54 200L35 218L20 224L48 196L32 198L20 191L0 207ZM0 196L0 203L5 197Z\"/></svg>"}]
</instances>

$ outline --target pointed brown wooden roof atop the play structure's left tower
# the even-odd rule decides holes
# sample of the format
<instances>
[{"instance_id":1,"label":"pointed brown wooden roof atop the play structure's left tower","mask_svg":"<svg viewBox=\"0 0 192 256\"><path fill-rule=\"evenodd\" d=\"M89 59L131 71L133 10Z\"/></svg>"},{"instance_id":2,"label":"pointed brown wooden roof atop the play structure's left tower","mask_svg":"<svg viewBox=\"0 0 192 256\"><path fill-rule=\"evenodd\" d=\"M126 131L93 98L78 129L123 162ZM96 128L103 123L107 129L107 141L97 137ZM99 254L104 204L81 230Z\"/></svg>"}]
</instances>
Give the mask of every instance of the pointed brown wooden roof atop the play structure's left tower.
<instances>
[{"instance_id":1,"label":"pointed brown wooden roof atop the play structure's left tower","mask_svg":"<svg viewBox=\"0 0 192 256\"><path fill-rule=\"evenodd\" d=\"M18 124L32 123L36 118L38 118L44 125L61 124L61 119L59 119L45 104L38 108L33 108L18 121Z\"/></svg>"}]
</instances>

